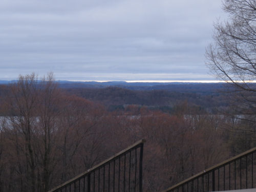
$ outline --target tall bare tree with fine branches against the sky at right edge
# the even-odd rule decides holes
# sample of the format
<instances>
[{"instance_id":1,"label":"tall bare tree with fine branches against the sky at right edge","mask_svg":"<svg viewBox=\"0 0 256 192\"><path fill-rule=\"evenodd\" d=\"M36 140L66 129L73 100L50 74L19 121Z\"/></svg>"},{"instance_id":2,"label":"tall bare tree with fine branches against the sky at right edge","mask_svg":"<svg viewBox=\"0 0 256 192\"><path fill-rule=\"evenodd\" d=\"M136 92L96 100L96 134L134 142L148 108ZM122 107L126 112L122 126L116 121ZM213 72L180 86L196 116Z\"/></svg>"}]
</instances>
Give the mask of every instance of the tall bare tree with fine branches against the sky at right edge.
<instances>
[{"instance_id":1,"label":"tall bare tree with fine branches against the sky at right edge","mask_svg":"<svg viewBox=\"0 0 256 192\"><path fill-rule=\"evenodd\" d=\"M256 122L256 1L224 0L226 22L215 24L214 42L206 48L206 65L229 85L232 116Z\"/></svg>"}]
</instances>

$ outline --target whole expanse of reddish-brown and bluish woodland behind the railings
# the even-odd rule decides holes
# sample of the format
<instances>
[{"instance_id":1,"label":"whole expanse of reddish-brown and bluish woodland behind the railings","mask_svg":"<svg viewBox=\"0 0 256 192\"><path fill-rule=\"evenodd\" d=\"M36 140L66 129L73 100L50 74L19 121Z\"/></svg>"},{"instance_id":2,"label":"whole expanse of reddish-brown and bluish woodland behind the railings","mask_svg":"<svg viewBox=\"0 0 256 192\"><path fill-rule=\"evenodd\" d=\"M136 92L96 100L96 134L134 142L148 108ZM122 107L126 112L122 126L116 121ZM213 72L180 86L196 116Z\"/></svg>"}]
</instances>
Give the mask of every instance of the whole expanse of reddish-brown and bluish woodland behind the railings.
<instances>
[{"instance_id":1,"label":"whole expanse of reddish-brown and bluish woodland behind the railings","mask_svg":"<svg viewBox=\"0 0 256 192\"><path fill-rule=\"evenodd\" d=\"M255 146L231 92L196 90L2 85L0 191L48 191L140 139L143 191L160 191Z\"/></svg>"}]
</instances>

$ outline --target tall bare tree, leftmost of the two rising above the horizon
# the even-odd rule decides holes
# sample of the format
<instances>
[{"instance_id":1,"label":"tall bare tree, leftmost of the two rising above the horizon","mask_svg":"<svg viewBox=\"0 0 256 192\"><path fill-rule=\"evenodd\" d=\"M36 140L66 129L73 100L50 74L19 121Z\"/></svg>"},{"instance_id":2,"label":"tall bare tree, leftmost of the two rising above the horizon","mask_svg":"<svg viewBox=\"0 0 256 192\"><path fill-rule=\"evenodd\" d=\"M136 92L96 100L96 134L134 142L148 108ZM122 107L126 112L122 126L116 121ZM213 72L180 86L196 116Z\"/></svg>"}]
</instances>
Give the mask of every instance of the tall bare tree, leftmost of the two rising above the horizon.
<instances>
[{"instance_id":1,"label":"tall bare tree, leftmost of the two rising above the horizon","mask_svg":"<svg viewBox=\"0 0 256 192\"><path fill-rule=\"evenodd\" d=\"M7 107L10 113L9 120L12 122L13 130L15 130L15 140L18 153L24 151L26 158L26 184L22 191L31 190L36 191L36 162L34 151L34 124L36 121L35 106L38 101L38 87L36 86L35 74L27 76L19 76L17 83L11 87L12 96L8 98ZM23 142L19 142L23 138ZM19 145L23 144L24 147ZM17 158L19 155L17 154Z\"/></svg>"}]
</instances>

